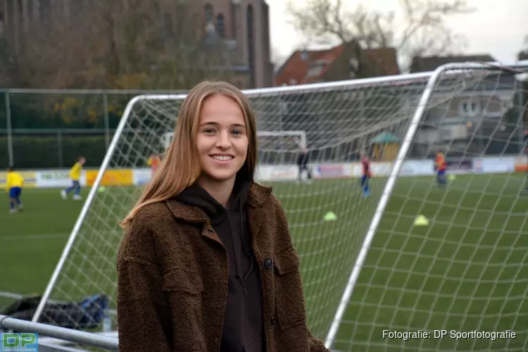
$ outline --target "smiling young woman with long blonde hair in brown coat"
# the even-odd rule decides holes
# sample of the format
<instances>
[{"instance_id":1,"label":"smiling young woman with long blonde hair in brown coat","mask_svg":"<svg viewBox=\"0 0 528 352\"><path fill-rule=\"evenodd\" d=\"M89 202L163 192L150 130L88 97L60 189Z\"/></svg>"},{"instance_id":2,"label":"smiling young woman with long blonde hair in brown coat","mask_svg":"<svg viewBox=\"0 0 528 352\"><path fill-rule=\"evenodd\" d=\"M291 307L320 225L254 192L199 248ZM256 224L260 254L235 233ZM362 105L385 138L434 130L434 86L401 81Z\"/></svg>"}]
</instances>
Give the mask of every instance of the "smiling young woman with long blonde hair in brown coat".
<instances>
[{"instance_id":1,"label":"smiling young woman with long blonde hair in brown coat","mask_svg":"<svg viewBox=\"0 0 528 352\"><path fill-rule=\"evenodd\" d=\"M246 96L194 87L121 224L121 352L329 351L308 331L298 255L279 201L253 180L257 155Z\"/></svg>"}]
</instances>

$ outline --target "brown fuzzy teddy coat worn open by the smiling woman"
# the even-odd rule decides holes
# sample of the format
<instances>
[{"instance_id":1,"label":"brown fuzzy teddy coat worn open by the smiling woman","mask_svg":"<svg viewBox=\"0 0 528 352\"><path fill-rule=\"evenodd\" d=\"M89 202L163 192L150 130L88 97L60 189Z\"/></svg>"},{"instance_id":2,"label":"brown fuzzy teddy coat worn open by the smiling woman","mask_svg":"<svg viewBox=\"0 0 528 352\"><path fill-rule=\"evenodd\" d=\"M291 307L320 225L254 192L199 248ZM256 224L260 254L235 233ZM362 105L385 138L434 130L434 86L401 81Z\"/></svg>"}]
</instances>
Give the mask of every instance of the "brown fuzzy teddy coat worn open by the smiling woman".
<instances>
[{"instance_id":1,"label":"brown fuzzy teddy coat worn open by the smiling woman","mask_svg":"<svg viewBox=\"0 0 528 352\"><path fill-rule=\"evenodd\" d=\"M266 351L329 352L308 331L298 255L270 187L251 185L247 213ZM119 351L220 351L227 270L203 210L175 200L139 210L118 253Z\"/></svg>"}]
</instances>

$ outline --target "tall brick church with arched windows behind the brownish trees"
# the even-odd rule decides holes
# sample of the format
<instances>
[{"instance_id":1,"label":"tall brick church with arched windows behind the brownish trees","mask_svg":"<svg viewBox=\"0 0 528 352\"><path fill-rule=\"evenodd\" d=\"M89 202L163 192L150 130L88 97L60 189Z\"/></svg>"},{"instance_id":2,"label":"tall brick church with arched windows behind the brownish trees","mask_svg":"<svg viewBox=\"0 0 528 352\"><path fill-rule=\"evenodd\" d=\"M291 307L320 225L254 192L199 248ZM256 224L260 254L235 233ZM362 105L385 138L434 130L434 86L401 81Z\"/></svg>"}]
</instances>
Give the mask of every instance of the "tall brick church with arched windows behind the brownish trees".
<instances>
[{"instance_id":1,"label":"tall brick church with arched windows behind the brownish trees","mask_svg":"<svg viewBox=\"0 0 528 352\"><path fill-rule=\"evenodd\" d=\"M87 11L90 0L0 0L0 34L13 39L15 48L30 25L53 20L56 13ZM193 0L191 8L214 26L215 37L237 53L237 85L241 88L273 85L269 6L265 0Z\"/></svg>"}]
</instances>

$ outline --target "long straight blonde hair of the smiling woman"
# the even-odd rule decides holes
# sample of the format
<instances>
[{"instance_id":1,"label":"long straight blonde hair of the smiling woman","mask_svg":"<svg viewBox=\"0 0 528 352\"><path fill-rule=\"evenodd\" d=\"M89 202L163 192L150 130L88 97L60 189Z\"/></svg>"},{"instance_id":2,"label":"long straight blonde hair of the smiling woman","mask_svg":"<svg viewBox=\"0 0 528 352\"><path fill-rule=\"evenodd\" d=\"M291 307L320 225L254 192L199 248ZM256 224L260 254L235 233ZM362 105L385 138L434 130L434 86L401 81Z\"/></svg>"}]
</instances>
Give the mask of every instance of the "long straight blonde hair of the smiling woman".
<instances>
[{"instance_id":1,"label":"long straight blonde hair of the smiling woman","mask_svg":"<svg viewBox=\"0 0 528 352\"><path fill-rule=\"evenodd\" d=\"M233 99L241 107L246 120L248 153L241 171L247 172L251 181L255 173L258 146L256 118L249 99L237 87L227 82L201 82L191 89L182 103L176 122L174 138L163 162L145 187L134 208L119 225L126 228L137 212L146 205L166 201L194 184L201 175L200 156L196 147L199 118L203 102L210 96L223 95Z\"/></svg>"}]
</instances>

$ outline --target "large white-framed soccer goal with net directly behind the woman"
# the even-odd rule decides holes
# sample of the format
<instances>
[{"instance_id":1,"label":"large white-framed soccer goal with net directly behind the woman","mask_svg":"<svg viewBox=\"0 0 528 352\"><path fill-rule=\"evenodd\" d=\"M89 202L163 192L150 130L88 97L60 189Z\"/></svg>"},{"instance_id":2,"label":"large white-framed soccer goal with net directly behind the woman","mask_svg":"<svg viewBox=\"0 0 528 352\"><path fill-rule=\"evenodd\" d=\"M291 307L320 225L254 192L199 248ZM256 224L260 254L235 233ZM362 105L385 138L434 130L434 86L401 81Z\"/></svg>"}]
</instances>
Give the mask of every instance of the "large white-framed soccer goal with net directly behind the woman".
<instances>
[{"instance_id":1,"label":"large white-framed soccer goal with net directly behind the woman","mask_svg":"<svg viewBox=\"0 0 528 352\"><path fill-rule=\"evenodd\" d=\"M527 85L516 70L467 63L246 92L260 131L257 178L286 210L308 325L327 346L526 350ZM115 310L118 222L148 182L147 158L163 153L184 97L128 104L35 321L46 320L45 302L90 294L107 295ZM298 180L303 148L311 182ZM437 184L437 150L447 184ZM368 191L362 151L372 162ZM101 191L103 173L115 170L131 176Z\"/></svg>"}]
</instances>

